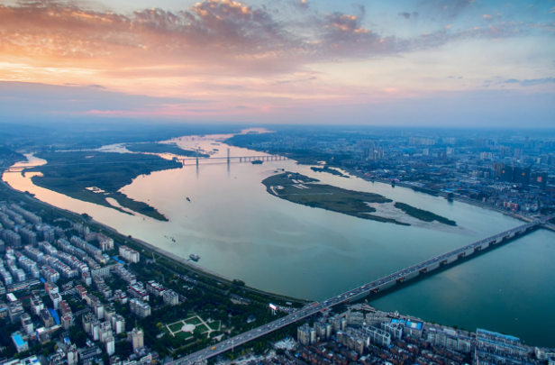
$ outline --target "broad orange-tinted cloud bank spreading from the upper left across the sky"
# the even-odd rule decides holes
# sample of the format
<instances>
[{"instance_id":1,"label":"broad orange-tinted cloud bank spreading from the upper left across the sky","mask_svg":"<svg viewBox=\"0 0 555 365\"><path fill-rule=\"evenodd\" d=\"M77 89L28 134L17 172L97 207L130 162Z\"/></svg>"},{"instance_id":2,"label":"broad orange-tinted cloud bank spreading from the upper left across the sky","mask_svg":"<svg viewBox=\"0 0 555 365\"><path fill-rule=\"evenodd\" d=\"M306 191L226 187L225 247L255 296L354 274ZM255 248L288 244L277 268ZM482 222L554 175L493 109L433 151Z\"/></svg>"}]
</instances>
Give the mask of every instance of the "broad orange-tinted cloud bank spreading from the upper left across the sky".
<instances>
[{"instance_id":1,"label":"broad orange-tinted cloud bank spreading from the upper left across the sky","mask_svg":"<svg viewBox=\"0 0 555 365\"><path fill-rule=\"evenodd\" d=\"M54 78L49 68L85 69L93 75L92 83L103 84L101 78L281 76L305 72L317 63L399 57L470 38L552 33L524 23L499 23L457 32L386 35L372 29L375 25L364 6L354 5L355 14L319 13L306 0L260 6L202 0L179 11L145 9L130 14L92 10L83 4L37 0L0 5L0 59L42 69L49 80ZM469 4L432 2L445 14L458 13ZM101 78L95 80L96 76ZM63 79L68 81L91 82Z\"/></svg>"}]
</instances>

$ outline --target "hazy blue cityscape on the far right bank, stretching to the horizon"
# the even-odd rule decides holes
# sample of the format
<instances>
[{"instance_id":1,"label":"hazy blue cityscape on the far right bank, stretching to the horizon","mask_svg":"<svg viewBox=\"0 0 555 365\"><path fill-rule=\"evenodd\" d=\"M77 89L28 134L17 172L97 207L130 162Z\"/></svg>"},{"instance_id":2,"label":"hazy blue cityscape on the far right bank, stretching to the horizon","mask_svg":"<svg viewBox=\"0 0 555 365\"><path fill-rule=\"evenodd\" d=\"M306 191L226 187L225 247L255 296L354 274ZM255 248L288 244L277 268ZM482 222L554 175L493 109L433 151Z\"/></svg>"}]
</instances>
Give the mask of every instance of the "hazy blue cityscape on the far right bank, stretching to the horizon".
<instances>
[{"instance_id":1,"label":"hazy blue cityscape on the far right bank, stretching to the horizon","mask_svg":"<svg viewBox=\"0 0 555 365\"><path fill-rule=\"evenodd\" d=\"M361 135L362 134L362 135ZM495 132L491 134L495 135ZM301 163L323 161L354 176L518 214L555 207L555 141L523 132L278 132L236 136L232 143L282 152Z\"/></svg>"}]
</instances>

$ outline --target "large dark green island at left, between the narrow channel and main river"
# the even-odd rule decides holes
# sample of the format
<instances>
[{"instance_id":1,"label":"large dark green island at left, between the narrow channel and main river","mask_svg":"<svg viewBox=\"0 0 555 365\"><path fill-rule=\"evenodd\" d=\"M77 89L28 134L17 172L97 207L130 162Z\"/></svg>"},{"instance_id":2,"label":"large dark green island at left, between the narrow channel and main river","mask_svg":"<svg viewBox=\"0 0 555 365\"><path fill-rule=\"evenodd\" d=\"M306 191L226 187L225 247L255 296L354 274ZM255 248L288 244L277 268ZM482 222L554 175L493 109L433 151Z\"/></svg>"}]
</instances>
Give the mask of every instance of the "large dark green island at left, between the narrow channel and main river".
<instances>
[{"instance_id":1,"label":"large dark green island at left, between the narrow channel and main river","mask_svg":"<svg viewBox=\"0 0 555 365\"><path fill-rule=\"evenodd\" d=\"M133 200L118 190L141 175L181 168L181 163L175 160L165 160L154 155L99 151L41 152L36 156L48 163L25 171L41 172L42 176L32 177L32 182L39 187L129 214L108 203L106 198L111 197L133 212L168 221L154 207ZM97 187L96 192L90 190L91 187Z\"/></svg>"}]
</instances>

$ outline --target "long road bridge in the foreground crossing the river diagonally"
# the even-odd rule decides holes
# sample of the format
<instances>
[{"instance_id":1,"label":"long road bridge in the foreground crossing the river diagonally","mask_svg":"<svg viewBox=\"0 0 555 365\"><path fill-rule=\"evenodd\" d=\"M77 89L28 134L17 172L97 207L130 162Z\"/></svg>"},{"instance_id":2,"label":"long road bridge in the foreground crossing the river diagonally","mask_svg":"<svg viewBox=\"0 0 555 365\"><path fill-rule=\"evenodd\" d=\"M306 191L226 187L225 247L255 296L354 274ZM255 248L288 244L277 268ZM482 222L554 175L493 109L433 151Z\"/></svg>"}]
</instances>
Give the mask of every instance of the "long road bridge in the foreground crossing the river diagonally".
<instances>
[{"instance_id":1,"label":"long road bridge in the foreground crossing the river diagonally","mask_svg":"<svg viewBox=\"0 0 555 365\"><path fill-rule=\"evenodd\" d=\"M401 269L393 274L387 275L386 277L378 278L371 283L342 293L339 296L332 297L322 303L314 302L291 315L287 315L269 324L264 324L261 327L250 330L249 332L241 333L228 340L219 342L212 347L207 347L204 350L196 351L195 353L187 355L181 359L172 361L167 365L191 365L199 361L207 360L225 351L232 350L234 347L240 346L243 343L250 342L268 333L272 333L279 328L286 327L289 324L295 324L297 321L300 321L311 315L315 315L324 309L336 306L341 303L359 300L363 297L367 297L370 293L377 293L380 290L395 286L396 283L415 278L421 273L430 272L434 269L438 269L441 265L448 265L451 262L458 260L460 257L466 257L476 251L487 249L487 247L489 247L490 245L496 245L503 242L505 239L514 237L515 234L523 234L536 225L547 224L553 218L555 218L555 214L535 220L529 224L520 225L502 233L497 233L483 240L479 240L477 242L473 242L466 246L460 247L459 249L445 252L441 255L433 257L432 259L425 260L406 269Z\"/></svg>"}]
</instances>

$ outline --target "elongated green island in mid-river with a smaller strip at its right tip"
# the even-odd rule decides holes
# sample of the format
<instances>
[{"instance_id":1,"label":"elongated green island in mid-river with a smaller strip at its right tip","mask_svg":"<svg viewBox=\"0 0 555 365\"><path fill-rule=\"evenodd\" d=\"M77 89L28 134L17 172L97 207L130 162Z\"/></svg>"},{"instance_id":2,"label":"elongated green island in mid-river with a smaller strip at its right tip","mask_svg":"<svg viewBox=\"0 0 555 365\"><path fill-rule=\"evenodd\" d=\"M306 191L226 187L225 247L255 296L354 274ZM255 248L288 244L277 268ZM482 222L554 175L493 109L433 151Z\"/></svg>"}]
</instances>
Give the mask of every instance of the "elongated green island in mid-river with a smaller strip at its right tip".
<instances>
[{"instance_id":1,"label":"elongated green island in mid-river with a smaller strip at its right tip","mask_svg":"<svg viewBox=\"0 0 555 365\"><path fill-rule=\"evenodd\" d=\"M266 191L268 191L269 194L296 204L331 210L332 212L352 215L372 221L410 225L396 221L393 218L385 218L372 214L377 210L368 206L367 203L384 204L393 202L393 200L385 196L347 190L331 185L314 184L316 182L319 182L319 180L308 178L294 172L285 172L265 178L262 184L266 186ZM411 215L424 222L438 221L442 224L457 225L447 218L433 214L432 212L414 208L411 205L396 203L395 206L398 209L402 209L405 214Z\"/></svg>"}]
</instances>

